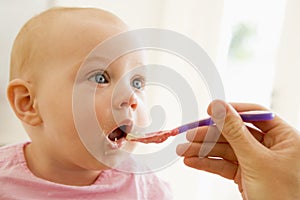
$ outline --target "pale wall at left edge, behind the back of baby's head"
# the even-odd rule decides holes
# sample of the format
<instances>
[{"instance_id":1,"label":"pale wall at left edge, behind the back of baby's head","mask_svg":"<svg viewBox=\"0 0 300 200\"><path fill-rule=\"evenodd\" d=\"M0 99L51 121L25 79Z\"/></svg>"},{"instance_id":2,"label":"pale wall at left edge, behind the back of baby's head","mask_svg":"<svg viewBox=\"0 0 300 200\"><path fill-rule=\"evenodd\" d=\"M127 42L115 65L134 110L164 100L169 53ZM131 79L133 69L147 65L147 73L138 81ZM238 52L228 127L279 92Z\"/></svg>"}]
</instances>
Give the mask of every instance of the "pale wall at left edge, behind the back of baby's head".
<instances>
[{"instance_id":1,"label":"pale wall at left edge, behind the back of baby's head","mask_svg":"<svg viewBox=\"0 0 300 200\"><path fill-rule=\"evenodd\" d=\"M0 2L0 145L27 139L6 98L10 50L24 23L48 7L48 1L10 0Z\"/></svg>"}]
</instances>

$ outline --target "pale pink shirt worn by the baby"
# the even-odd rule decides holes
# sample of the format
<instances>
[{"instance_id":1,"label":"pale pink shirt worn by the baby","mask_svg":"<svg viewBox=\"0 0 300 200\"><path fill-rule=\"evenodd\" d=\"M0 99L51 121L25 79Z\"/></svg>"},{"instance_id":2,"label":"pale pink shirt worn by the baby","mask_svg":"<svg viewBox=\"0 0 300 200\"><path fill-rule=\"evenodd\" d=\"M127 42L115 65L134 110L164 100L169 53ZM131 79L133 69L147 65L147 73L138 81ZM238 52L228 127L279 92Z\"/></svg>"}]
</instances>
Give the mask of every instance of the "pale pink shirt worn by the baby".
<instances>
[{"instance_id":1,"label":"pale pink shirt worn by the baby","mask_svg":"<svg viewBox=\"0 0 300 200\"><path fill-rule=\"evenodd\" d=\"M101 172L94 184L68 186L34 176L27 168L23 147L0 148L0 199L172 199L169 186L153 174L116 170Z\"/></svg>"}]
</instances>

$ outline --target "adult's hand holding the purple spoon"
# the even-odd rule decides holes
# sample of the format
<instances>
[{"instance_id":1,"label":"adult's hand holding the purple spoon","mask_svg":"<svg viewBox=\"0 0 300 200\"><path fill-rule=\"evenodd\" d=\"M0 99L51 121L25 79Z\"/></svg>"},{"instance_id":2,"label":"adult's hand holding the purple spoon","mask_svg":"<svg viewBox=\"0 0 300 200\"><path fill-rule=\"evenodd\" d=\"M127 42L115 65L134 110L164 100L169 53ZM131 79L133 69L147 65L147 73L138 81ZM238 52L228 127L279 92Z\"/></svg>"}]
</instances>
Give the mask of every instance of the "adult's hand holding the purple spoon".
<instances>
[{"instance_id":1,"label":"adult's hand holding the purple spoon","mask_svg":"<svg viewBox=\"0 0 300 200\"><path fill-rule=\"evenodd\" d=\"M187 133L190 143L178 145L177 154L184 157L187 166L234 180L243 199L300 199L299 132L278 116L253 122L256 128L247 126L237 112L251 110L266 109L256 104L213 101L208 114L216 123L210 127L215 131L201 127ZM212 142L205 139L206 134L218 131L222 135L212 150L199 157L201 147Z\"/></svg>"}]
</instances>

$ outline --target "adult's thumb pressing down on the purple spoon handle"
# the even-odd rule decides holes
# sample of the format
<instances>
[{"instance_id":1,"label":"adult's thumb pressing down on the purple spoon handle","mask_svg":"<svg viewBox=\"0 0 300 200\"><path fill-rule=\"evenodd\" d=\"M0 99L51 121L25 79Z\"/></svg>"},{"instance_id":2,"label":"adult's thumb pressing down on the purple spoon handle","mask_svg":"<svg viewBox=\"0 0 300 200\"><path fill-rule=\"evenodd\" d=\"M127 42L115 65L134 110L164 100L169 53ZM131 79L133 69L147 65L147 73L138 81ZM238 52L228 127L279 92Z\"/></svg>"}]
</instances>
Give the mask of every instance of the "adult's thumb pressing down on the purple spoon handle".
<instances>
[{"instance_id":1,"label":"adult's thumb pressing down on the purple spoon handle","mask_svg":"<svg viewBox=\"0 0 300 200\"><path fill-rule=\"evenodd\" d=\"M208 107L217 128L233 148L238 158L251 156L257 140L252 136L240 115L230 105L221 100L214 100Z\"/></svg>"}]
</instances>

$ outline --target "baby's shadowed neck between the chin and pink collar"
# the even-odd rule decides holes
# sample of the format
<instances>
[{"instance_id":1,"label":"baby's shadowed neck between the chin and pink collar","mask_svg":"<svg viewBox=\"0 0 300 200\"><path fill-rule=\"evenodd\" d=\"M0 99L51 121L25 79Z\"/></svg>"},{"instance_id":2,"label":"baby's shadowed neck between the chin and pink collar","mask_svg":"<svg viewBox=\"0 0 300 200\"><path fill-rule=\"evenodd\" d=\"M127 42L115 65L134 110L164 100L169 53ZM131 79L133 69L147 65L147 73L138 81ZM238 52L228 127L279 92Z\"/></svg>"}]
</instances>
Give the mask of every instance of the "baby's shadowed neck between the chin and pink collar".
<instances>
[{"instance_id":1,"label":"baby's shadowed neck between the chin and pink collar","mask_svg":"<svg viewBox=\"0 0 300 200\"><path fill-rule=\"evenodd\" d=\"M87 170L80 167L62 167L53 160L48 160L45 156L39 155L40 151L35 151L32 144L24 148L24 155L29 170L37 177L54 183L87 186L92 185L98 178L101 171Z\"/></svg>"}]
</instances>

